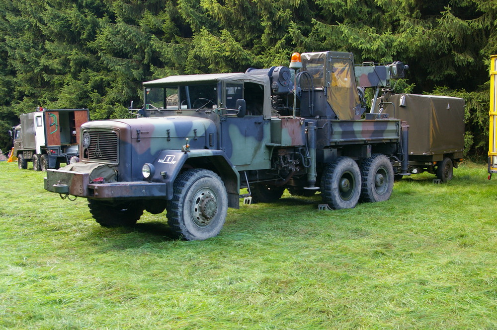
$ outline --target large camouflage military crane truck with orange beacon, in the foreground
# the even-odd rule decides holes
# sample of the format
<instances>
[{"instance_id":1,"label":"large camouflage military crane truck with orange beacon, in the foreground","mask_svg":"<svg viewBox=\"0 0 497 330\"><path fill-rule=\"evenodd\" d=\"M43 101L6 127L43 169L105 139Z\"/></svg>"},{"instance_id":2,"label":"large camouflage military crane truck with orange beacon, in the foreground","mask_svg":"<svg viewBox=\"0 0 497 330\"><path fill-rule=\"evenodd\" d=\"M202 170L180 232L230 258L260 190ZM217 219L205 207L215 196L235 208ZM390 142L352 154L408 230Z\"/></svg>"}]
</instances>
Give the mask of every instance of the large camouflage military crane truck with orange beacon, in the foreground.
<instances>
[{"instance_id":1,"label":"large camouflage military crane truck with orange beacon, in the foreground","mask_svg":"<svg viewBox=\"0 0 497 330\"><path fill-rule=\"evenodd\" d=\"M381 73L389 82L405 68L372 66L361 76ZM182 239L204 240L220 232L240 198L320 191L322 208L352 208L389 199L394 175L409 174L408 125L386 113L361 119L350 53L294 54L290 67L143 85L141 118L84 124L81 162L47 171L45 189L87 198L102 226L130 226L144 210L166 210Z\"/></svg>"}]
</instances>

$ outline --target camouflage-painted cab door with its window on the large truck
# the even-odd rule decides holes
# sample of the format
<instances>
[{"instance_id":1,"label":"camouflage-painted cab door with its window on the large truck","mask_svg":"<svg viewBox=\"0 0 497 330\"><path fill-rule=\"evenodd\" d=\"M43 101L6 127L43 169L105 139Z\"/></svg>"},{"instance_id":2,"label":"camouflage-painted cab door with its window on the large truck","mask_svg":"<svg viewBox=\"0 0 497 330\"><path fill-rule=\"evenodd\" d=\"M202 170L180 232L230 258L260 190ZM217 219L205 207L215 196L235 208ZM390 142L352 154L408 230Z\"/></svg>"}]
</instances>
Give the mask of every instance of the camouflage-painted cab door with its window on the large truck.
<instances>
[{"instance_id":1,"label":"camouflage-painted cab door with its window on the large truck","mask_svg":"<svg viewBox=\"0 0 497 330\"><path fill-rule=\"evenodd\" d=\"M262 116L263 85L246 82L226 83L225 105L235 109L237 99L244 98L247 114L243 118L227 116L221 122L221 147L239 171L270 168L270 120Z\"/></svg>"}]
</instances>

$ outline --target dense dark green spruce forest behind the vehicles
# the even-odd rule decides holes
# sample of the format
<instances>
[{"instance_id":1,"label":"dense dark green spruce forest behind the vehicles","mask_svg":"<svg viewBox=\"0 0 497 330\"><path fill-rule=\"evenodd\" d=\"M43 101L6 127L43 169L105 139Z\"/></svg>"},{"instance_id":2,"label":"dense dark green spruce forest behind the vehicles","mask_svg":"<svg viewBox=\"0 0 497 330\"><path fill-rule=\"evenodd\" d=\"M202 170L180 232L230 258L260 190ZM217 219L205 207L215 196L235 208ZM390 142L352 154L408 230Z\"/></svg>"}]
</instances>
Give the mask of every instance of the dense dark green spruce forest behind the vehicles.
<instances>
[{"instance_id":1,"label":"dense dark green spruce forest behind the vehicles","mask_svg":"<svg viewBox=\"0 0 497 330\"><path fill-rule=\"evenodd\" d=\"M496 0L8 0L0 38L4 151L18 115L38 106L124 118L146 80L332 50L408 64L397 91L463 97L466 153L486 157Z\"/></svg>"}]
</instances>

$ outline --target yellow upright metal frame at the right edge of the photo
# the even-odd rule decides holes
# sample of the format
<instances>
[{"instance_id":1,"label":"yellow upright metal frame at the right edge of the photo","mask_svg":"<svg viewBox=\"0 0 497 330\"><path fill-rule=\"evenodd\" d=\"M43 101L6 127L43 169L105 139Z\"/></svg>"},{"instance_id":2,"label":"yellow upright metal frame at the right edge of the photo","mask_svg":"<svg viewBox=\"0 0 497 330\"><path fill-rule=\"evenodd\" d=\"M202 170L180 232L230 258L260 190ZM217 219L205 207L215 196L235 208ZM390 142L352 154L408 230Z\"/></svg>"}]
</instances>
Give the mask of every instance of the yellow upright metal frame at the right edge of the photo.
<instances>
[{"instance_id":1,"label":"yellow upright metal frame at the right edge of the photo","mask_svg":"<svg viewBox=\"0 0 497 330\"><path fill-rule=\"evenodd\" d=\"M497 173L497 55L490 57L490 129L489 129L489 179Z\"/></svg>"}]
</instances>

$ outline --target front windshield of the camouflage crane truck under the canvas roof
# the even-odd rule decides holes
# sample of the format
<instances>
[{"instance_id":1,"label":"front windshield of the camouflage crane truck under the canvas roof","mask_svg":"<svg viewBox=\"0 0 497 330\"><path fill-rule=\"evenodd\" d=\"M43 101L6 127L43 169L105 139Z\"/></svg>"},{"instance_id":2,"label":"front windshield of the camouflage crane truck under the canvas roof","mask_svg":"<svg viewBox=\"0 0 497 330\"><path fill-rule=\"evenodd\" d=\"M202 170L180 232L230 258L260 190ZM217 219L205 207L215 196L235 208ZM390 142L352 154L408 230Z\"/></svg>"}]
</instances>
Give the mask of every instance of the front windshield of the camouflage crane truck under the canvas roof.
<instances>
[{"instance_id":1,"label":"front windshield of the camouflage crane truck under the canvas roof","mask_svg":"<svg viewBox=\"0 0 497 330\"><path fill-rule=\"evenodd\" d=\"M145 89L147 108L213 109L218 106L218 85L216 83L178 87L150 87Z\"/></svg>"}]
</instances>

